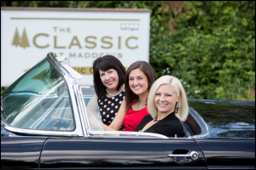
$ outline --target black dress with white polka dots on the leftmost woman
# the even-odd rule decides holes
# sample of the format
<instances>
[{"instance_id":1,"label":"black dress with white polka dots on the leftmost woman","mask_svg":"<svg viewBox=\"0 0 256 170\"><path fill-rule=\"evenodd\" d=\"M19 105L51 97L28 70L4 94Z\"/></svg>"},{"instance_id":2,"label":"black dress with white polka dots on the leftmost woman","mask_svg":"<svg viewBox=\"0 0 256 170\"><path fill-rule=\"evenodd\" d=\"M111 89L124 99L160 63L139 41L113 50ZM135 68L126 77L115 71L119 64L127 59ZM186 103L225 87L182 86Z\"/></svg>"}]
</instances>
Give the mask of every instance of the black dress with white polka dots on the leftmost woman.
<instances>
[{"instance_id":1,"label":"black dress with white polka dots on the leftmost woman","mask_svg":"<svg viewBox=\"0 0 256 170\"><path fill-rule=\"evenodd\" d=\"M98 105L102 116L102 122L104 124L108 126L110 125L114 116L116 116L119 111L119 107L122 104L123 99L125 99L125 89L119 95L112 98L107 98L106 96L98 98ZM120 129L125 130L125 126Z\"/></svg>"}]
</instances>

